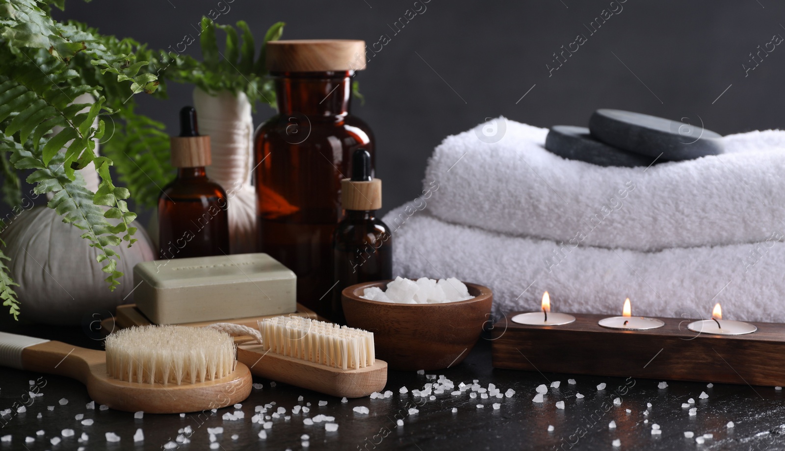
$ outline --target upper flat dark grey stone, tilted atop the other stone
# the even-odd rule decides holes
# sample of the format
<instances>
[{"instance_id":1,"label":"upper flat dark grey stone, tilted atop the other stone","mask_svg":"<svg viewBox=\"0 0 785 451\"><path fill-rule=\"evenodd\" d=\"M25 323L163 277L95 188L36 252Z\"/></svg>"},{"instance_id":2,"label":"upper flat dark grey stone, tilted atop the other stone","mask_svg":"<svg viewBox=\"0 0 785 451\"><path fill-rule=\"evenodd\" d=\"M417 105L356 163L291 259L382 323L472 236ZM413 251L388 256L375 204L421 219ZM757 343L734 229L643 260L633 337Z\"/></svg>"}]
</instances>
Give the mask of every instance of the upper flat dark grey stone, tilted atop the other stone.
<instances>
[{"instance_id":1,"label":"upper flat dark grey stone, tilted atop the other stone","mask_svg":"<svg viewBox=\"0 0 785 451\"><path fill-rule=\"evenodd\" d=\"M597 110L589 120L591 135L605 144L673 161L718 155L722 136L697 125L621 110Z\"/></svg>"}]
</instances>

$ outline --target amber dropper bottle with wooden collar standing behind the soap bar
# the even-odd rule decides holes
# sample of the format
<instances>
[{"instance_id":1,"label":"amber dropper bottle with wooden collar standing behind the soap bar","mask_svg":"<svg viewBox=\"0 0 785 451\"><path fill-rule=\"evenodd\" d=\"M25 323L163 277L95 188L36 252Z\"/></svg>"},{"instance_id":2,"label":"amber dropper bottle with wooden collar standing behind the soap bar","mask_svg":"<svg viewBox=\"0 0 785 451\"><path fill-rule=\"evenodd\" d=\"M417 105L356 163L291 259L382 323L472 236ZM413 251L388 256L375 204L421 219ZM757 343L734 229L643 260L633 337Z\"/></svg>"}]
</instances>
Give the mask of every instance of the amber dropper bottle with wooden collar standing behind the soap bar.
<instances>
[{"instance_id":1,"label":"amber dropper bottle with wooden collar standing behind the soap bar","mask_svg":"<svg viewBox=\"0 0 785 451\"><path fill-rule=\"evenodd\" d=\"M177 179L158 199L159 259L229 253L226 193L207 178L210 136L199 136L196 110L180 111L180 136L170 138Z\"/></svg>"}]
</instances>

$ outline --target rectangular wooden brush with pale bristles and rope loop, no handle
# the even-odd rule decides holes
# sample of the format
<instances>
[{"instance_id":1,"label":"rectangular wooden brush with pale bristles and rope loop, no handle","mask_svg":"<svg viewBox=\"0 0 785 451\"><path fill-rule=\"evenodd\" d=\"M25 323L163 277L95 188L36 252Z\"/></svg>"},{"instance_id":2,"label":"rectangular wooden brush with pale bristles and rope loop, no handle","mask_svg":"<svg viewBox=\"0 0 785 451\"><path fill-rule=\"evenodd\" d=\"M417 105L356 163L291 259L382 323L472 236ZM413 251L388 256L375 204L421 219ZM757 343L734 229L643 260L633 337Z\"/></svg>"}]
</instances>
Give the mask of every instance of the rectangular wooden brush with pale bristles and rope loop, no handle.
<instances>
[{"instance_id":1,"label":"rectangular wooden brush with pale bristles and rope loop, no handle","mask_svg":"<svg viewBox=\"0 0 785 451\"><path fill-rule=\"evenodd\" d=\"M371 395L387 384L387 362L374 357L374 334L362 329L299 316L265 318L258 330L214 327L254 336L259 344L239 345L237 359L255 376L346 398Z\"/></svg>"}]
</instances>

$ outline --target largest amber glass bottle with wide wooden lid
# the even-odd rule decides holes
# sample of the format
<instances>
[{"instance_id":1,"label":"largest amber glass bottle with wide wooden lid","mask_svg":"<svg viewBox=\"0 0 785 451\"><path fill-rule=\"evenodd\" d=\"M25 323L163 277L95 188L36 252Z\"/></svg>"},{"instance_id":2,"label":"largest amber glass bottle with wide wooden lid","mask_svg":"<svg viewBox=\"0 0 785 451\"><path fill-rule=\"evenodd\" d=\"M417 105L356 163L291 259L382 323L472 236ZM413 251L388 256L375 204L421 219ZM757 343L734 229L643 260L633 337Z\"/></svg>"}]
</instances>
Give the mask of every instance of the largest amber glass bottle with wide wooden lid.
<instances>
[{"instance_id":1,"label":"largest amber glass bottle with wide wooden lid","mask_svg":"<svg viewBox=\"0 0 785 451\"><path fill-rule=\"evenodd\" d=\"M365 66L363 41L268 42L278 114L254 138L260 252L298 276L298 302L329 315L332 239L341 220L341 179L371 129L349 114L351 77Z\"/></svg>"}]
</instances>

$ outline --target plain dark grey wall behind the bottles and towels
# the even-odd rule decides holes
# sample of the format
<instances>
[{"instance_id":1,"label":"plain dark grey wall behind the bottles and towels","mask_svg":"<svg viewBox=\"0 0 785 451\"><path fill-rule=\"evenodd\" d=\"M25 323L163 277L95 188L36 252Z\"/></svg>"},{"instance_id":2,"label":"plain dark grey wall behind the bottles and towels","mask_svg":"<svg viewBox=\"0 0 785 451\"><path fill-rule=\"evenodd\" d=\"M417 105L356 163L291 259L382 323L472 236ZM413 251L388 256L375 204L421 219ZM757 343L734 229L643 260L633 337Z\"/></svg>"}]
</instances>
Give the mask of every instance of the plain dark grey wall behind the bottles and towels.
<instances>
[{"instance_id":1,"label":"plain dark grey wall behind the bottles and towels","mask_svg":"<svg viewBox=\"0 0 785 451\"><path fill-rule=\"evenodd\" d=\"M227 6L218 21L246 20L257 40L277 20L287 23L283 38L360 38L371 45L387 35L389 43L358 76L366 104L353 105L377 136L385 210L419 194L425 162L444 136L484 118L586 125L593 110L612 107L690 118L721 134L780 128L785 119L785 48L776 47L748 76L742 67L753 65L749 53L758 45L785 36L785 5L771 0L627 0L593 35L586 25L610 0L431 0L397 34L391 26L414 0L218 3L69 0L57 16L160 49L196 36L201 16ZM549 77L553 53L579 34L587 42ZM198 55L198 45L189 51ZM170 84L170 100L143 98L141 111L171 132L191 91ZM272 112L260 105L256 123Z\"/></svg>"}]
</instances>

